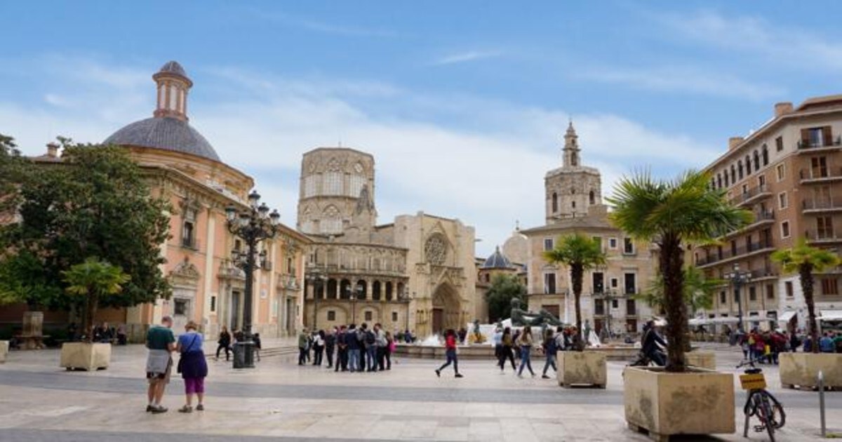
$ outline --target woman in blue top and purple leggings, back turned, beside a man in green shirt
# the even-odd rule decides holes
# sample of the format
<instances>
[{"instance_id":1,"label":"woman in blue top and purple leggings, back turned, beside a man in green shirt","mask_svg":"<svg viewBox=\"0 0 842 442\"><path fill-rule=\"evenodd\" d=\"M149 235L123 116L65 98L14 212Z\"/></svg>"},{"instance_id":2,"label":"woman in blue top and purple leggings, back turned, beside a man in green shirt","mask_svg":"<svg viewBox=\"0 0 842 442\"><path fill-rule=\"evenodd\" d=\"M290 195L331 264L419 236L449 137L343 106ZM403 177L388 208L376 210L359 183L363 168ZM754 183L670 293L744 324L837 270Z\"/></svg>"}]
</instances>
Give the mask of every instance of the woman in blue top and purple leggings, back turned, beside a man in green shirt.
<instances>
[{"instance_id":1,"label":"woman in blue top and purple leggings, back turned, beside a man in green shirt","mask_svg":"<svg viewBox=\"0 0 842 442\"><path fill-rule=\"evenodd\" d=\"M193 413L193 395L197 398L197 411L204 411L205 405L205 377L208 375L208 365L205 361L203 343L205 338L197 332L198 326L195 322L189 321L184 326L184 334L179 336L179 343L176 351L181 354L178 371L184 378L184 407L179 408L179 413Z\"/></svg>"}]
</instances>

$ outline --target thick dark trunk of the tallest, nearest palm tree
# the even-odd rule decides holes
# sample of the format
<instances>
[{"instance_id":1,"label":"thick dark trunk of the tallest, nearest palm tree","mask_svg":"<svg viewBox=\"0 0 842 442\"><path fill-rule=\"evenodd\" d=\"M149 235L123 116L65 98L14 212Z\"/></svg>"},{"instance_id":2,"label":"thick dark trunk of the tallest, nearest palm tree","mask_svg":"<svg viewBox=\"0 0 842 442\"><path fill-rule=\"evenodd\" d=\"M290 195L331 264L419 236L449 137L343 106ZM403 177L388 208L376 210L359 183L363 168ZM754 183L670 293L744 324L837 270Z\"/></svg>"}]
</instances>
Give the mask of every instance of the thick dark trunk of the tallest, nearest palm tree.
<instances>
[{"instance_id":1,"label":"thick dark trunk of the tallest, nearest palm tree","mask_svg":"<svg viewBox=\"0 0 842 442\"><path fill-rule=\"evenodd\" d=\"M677 235L667 234L661 240L660 261L663 275L663 304L667 311L667 366L671 372L685 371L687 340L687 306L684 300L684 251Z\"/></svg>"}]
</instances>

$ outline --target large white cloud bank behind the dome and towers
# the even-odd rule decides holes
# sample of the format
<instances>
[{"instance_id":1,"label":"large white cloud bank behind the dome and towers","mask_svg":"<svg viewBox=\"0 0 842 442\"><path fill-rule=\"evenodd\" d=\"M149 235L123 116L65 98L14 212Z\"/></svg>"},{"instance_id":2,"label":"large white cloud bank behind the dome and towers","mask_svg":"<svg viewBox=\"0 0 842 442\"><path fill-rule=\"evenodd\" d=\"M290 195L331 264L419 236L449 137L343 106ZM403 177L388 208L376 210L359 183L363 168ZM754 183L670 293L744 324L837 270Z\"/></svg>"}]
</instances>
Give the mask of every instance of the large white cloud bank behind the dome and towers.
<instances>
[{"instance_id":1,"label":"large white cloud bank behind the dome and towers","mask_svg":"<svg viewBox=\"0 0 842 442\"><path fill-rule=\"evenodd\" d=\"M189 106L191 124L223 160L256 179L264 200L280 207L290 226L295 225L301 155L339 140L375 156L381 223L418 210L459 218L476 226L477 237L484 240L477 244L482 256L504 242L516 220L524 227L544 220L543 177L560 166L568 121L560 109L418 96L388 84L232 72L195 84L191 98L200 95L202 100ZM101 141L120 125L152 113L154 86L148 72L145 76L142 93L131 83L97 86L85 77L79 84L70 82L67 90L51 85L51 93L61 97L86 91L74 95L70 109L0 101L0 131L18 138L27 154L42 153L45 142L59 134ZM222 97L214 94L223 90ZM423 108L419 114L440 106L447 114L471 115L472 127L389 112L417 105ZM407 114L413 113L401 115ZM117 116L120 124L115 124ZM717 154L716 148L687 136L651 130L619 115L578 115L574 124L584 162L603 169L603 194L610 194L616 178L634 167L698 167Z\"/></svg>"}]
</instances>

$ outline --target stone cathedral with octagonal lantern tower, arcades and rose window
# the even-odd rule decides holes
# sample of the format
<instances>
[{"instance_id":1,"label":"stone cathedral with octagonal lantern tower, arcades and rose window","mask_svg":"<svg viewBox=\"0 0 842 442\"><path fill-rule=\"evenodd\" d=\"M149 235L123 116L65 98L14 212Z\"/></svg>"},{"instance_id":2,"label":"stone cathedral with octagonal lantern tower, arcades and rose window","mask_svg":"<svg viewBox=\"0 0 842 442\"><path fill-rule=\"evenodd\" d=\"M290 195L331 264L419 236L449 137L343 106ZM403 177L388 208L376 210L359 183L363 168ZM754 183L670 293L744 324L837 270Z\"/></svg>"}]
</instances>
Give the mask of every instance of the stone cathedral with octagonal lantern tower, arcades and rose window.
<instances>
[{"instance_id":1,"label":"stone cathedral with octagonal lantern tower, arcades and rose window","mask_svg":"<svg viewBox=\"0 0 842 442\"><path fill-rule=\"evenodd\" d=\"M374 170L374 157L347 147L302 158L298 229L315 242L305 325L380 322L418 336L463 327L476 316L473 227L424 212L377 225Z\"/></svg>"}]
</instances>

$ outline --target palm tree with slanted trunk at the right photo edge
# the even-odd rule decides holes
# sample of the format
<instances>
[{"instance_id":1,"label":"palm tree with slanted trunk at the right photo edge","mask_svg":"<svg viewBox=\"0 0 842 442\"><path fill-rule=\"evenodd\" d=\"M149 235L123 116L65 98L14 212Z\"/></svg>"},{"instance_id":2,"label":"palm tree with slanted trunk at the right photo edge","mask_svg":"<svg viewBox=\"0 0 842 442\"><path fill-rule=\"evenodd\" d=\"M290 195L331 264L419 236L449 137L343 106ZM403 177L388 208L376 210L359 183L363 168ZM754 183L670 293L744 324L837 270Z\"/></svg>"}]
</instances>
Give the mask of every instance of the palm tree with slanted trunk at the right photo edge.
<instances>
[{"instance_id":1,"label":"palm tree with slanted trunk at the right photo edge","mask_svg":"<svg viewBox=\"0 0 842 442\"><path fill-rule=\"evenodd\" d=\"M839 265L839 256L822 248L810 247L802 239L794 248L772 253L772 260L781 263L787 273L798 272L798 279L801 280L801 288L804 290L804 302L807 303L807 323L810 328L810 340L813 342L813 353L818 353L813 272L822 272L829 267Z\"/></svg>"}]
</instances>

